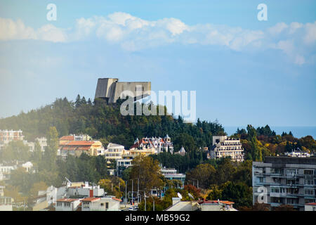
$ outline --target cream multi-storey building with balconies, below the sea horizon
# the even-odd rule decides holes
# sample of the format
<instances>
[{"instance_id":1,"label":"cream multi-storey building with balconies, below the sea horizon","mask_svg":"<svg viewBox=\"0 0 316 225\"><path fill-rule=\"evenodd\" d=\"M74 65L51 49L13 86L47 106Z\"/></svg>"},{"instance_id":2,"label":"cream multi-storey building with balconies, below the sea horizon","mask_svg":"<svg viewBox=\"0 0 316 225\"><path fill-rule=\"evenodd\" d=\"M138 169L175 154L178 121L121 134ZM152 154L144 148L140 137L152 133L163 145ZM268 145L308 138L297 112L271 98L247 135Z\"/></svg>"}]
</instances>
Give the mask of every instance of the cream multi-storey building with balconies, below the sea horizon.
<instances>
[{"instance_id":1,"label":"cream multi-storey building with balconies, below the sea horizon","mask_svg":"<svg viewBox=\"0 0 316 225\"><path fill-rule=\"evenodd\" d=\"M213 147L210 150L213 159L230 156L237 162L244 161L244 148L240 139L229 139L227 136L213 136Z\"/></svg>"}]
</instances>

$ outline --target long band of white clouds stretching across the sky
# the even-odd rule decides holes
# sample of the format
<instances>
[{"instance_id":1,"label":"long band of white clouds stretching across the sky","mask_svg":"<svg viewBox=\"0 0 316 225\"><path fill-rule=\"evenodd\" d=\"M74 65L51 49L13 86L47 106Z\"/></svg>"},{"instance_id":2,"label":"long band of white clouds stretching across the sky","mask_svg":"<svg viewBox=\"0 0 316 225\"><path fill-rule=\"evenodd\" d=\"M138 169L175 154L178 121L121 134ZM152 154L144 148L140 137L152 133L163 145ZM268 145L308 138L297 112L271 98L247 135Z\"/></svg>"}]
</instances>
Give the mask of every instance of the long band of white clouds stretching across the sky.
<instances>
[{"instance_id":1,"label":"long band of white clouds stretching across the sky","mask_svg":"<svg viewBox=\"0 0 316 225\"><path fill-rule=\"evenodd\" d=\"M53 42L97 38L119 44L126 51L154 48L167 44L226 46L234 51L283 51L294 63L302 65L315 55L315 23L277 23L266 30L246 30L227 25L186 25L176 18L143 20L129 13L116 12L105 17L79 18L74 29L44 25L38 30L21 20L0 18L0 40L41 39ZM306 60L307 59L307 60Z\"/></svg>"}]
</instances>

